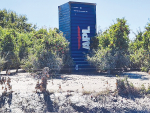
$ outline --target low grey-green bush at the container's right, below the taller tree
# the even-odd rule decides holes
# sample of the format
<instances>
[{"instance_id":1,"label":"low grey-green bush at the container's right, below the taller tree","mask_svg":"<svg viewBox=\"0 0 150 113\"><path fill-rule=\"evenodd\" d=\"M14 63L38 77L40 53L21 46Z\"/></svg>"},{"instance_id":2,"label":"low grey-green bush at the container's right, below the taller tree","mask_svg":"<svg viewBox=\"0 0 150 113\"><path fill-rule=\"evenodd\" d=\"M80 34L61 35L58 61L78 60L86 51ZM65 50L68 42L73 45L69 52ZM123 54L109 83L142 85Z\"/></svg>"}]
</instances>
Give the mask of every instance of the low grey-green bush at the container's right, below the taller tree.
<instances>
[{"instance_id":1,"label":"low grey-green bush at the container's right, below the taller tree","mask_svg":"<svg viewBox=\"0 0 150 113\"><path fill-rule=\"evenodd\" d=\"M124 68L130 64L130 57L124 51L108 48L95 51L93 56L87 56L87 60L100 71Z\"/></svg>"}]
</instances>

